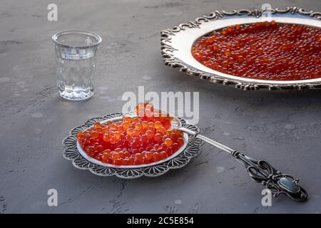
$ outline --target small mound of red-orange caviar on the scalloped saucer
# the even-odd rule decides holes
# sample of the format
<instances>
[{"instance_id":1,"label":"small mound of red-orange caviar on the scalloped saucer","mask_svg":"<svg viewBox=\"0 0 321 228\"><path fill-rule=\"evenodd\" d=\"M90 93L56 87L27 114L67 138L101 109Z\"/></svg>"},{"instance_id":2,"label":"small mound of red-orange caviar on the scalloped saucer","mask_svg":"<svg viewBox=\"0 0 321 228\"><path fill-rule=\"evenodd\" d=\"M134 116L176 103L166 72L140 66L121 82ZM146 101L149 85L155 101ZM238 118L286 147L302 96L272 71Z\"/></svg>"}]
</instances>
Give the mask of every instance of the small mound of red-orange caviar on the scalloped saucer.
<instances>
[{"instance_id":1,"label":"small mound of red-orange caviar on the scalloped saucer","mask_svg":"<svg viewBox=\"0 0 321 228\"><path fill-rule=\"evenodd\" d=\"M95 123L78 133L78 142L96 160L113 165L142 165L164 160L183 144L183 133L170 128L170 116L151 103L136 107L138 117Z\"/></svg>"}]
</instances>

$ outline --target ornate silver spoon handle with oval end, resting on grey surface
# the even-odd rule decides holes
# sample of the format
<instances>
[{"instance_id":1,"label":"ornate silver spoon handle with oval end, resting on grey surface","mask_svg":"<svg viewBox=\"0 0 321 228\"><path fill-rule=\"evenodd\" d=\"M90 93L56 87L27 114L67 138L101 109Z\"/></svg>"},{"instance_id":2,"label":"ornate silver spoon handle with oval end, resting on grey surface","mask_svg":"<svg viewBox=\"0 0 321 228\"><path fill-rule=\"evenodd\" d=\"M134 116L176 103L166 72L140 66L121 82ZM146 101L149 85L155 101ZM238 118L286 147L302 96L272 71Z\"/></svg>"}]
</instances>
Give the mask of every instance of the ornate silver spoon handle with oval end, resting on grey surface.
<instances>
[{"instance_id":1,"label":"ornate silver spoon handle with oval end, resting on grey surface","mask_svg":"<svg viewBox=\"0 0 321 228\"><path fill-rule=\"evenodd\" d=\"M183 130L185 133L192 134L196 138L208 142L221 150L229 152L230 155L236 158L236 160L245 165L252 180L265 185L267 189L271 190L273 197L285 194L287 197L290 197L290 199L297 202L307 200L307 192L298 184L299 180L276 170L269 162L266 162L265 160L255 160L238 152L237 150L233 150L230 147L220 144L219 142L211 140L210 138L198 133L194 133L186 128L180 128L180 130Z\"/></svg>"}]
</instances>

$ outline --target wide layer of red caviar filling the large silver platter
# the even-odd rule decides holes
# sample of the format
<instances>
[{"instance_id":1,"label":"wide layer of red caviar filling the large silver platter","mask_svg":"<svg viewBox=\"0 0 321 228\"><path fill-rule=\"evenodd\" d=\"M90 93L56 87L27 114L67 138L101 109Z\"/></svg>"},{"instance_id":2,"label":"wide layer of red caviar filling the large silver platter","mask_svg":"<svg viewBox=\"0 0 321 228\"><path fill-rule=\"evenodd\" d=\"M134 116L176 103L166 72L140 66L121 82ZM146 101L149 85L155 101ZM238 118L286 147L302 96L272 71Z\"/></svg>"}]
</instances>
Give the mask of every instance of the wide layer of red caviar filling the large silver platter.
<instances>
[{"instance_id":1,"label":"wide layer of red caviar filling the large silver platter","mask_svg":"<svg viewBox=\"0 0 321 228\"><path fill-rule=\"evenodd\" d=\"M275 21L228 26L195 42L194 58L215 71L263 80L321 77L321 28Z\"/></svg>"}]
</instances>

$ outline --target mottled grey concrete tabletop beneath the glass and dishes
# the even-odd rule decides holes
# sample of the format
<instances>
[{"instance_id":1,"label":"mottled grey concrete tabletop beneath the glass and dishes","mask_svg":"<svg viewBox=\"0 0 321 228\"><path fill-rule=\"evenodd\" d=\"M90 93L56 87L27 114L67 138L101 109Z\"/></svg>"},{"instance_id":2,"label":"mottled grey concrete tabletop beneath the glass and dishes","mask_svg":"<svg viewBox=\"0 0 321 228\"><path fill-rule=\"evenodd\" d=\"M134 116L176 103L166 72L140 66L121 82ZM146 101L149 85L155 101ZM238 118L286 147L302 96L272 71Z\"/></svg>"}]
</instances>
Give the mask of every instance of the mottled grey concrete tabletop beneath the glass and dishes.
<instances>
[{"instance_id":1,"label":"mottled grey concrete tabletop beneath the glass and dishes","mask_svg":"<svg viewBox=\"0 0 321 228\"><path fill-rule=\"evenodd\" d=\"M216 9L260 8L267 1L1 0L0 212L285 213L321 212L321 90L243 91L215 85L163 65L159 33ZM320 11L321 1L269 1ZM58 97L51 36L95 31L96 94L83 103ZM195 160L157 178L119 180L77 170L63 159L61 140L93 115L121 110L126 91L199 91L205 135L265 158L300 178L310 199L281 197L261 205L260 185L224 152L205 145ZM58 191L58 207L46 192Z\"/></svg>"}]
</instances>

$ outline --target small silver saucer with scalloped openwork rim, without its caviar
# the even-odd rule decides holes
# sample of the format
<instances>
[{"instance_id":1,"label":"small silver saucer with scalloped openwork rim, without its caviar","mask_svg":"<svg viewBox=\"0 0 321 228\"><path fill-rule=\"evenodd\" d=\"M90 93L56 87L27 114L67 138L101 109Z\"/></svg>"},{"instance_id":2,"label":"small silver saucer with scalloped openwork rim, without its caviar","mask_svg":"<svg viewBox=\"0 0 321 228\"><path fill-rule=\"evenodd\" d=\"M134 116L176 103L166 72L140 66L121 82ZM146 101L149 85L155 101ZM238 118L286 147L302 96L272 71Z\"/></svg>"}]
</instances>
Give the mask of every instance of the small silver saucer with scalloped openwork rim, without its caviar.
<instances>
[{"instance_id":1,"label":"small silver saucer with scalloped openwork rim, without its caviar","mask_svg":"<svg viewBox=\"0 0 321 228\"><path fill-rule=\"evenodd\" d=\"M156 177L163 175L170 169L177 169L185 166L190 162L190 159L200 154L200 146L203 142L198 138L187 135L184 133L184 145L180 147L180 150L168 157L166 160L159 162L153 162L146 165L111 165L100 162L88 156L84 152L81 146L78 144L77 135L79 132L91 128L94 123L104 123L108 120L118 121L123 115L134 115L133 113L111 113L103 117L92 118L87 120L86 123L73 128L67 138L63 140L63 157L67 160L71 160L74 167L81 170L90 170L93 174L100 176L112 176L116 175L121 178L136 178L141 176ZM199 133L198 127L190 125L183 118L179 118L181 125L184 128L193 130L195 133Z\"/></svg>"}]
</instances>

